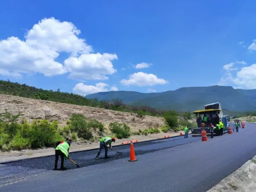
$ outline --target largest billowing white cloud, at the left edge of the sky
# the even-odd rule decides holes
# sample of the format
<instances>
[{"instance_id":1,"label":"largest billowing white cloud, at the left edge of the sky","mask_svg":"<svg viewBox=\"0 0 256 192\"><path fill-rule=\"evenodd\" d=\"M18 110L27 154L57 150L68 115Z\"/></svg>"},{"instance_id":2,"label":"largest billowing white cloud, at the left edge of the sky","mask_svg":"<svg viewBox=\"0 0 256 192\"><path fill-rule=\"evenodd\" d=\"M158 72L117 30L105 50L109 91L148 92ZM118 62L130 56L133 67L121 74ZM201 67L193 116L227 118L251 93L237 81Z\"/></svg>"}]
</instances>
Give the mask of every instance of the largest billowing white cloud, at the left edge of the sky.
<instances>
[{"instance_id":1,"label":"largest billowing white cloud, at the left edge of the sky","mask_svg":"<svg viewBox=\"0 0 256 192\"><path fill-rule=\"evenodd\" d=\"M73 23L51 17L34 24L25 40L14 36L0 40L0 74L20 78L24 73L69 72L69 77L79 80L107 79L116 71L111 60L117 55L91 53L92 47L78 37L80 32ZM67 55L64 64L56 61L61 52Z\"/></svg>"}]
</instances>

